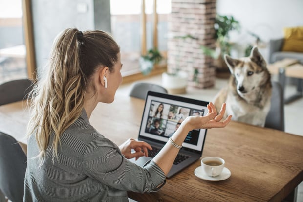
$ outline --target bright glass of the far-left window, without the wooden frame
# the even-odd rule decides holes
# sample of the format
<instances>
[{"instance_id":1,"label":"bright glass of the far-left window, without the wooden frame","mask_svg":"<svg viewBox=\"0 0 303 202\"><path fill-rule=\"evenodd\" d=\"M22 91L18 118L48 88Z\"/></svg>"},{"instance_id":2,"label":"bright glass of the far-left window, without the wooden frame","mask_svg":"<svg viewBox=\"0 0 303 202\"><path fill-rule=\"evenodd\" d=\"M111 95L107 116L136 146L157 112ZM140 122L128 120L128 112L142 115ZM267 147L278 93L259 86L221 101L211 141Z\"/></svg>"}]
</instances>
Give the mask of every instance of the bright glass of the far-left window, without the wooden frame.
<instances>
[{"instance_id":1,"label":"bright glass of the far-left window, without the wooden frame","mask_svg":"<svg viewBox=\"0 0 303 202\"><path fill-rule=\"evenodd\" d=\"M0 82L26 78L22 0L0 1Z\"/></svg>"}]
</instances>

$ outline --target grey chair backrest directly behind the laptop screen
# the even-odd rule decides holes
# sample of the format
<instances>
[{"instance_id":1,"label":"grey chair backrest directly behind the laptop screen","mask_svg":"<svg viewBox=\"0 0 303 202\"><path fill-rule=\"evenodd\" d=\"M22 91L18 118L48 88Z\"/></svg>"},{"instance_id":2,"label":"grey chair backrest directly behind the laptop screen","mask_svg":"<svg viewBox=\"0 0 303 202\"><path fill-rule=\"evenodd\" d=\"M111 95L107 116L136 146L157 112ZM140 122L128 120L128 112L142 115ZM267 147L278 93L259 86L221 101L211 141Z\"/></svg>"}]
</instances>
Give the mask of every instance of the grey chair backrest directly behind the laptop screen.
<instances>
[{"instance_id":1,"label":"grey chair backrest directly behind the laptop screen","mask_svg":"<svg viewBox=\"0 0 303 202\"><path fill-rule=\"evenodd\" d=\"M167 94L167 90L160 85L145 82L135 82L130 90L130 96L145 100L146 94L149 90Z\"/></svg>"}]
</instances>

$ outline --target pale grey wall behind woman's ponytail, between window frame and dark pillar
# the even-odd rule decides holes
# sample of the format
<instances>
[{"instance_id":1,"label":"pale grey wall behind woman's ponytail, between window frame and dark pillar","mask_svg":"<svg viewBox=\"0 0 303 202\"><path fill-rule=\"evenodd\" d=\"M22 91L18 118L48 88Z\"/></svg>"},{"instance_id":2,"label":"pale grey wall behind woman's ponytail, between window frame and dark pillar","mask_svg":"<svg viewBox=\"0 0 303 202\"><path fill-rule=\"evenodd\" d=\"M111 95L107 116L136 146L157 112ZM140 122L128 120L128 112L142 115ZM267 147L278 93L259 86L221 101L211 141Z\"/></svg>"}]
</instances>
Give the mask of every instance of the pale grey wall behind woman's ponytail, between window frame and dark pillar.
<instances>
[{"instance_id":1,"label":"pale grey wall behind woman's ponytail, between window frame and dark pillar","mask_svg":"<svg viewBox=\"0 0 303 202\"><path fill-rule=\"evenodd\" d=\"M38 76L55 37L66 28L94 29L93 0L32 0Z\"/></svg>"}]
</instances>

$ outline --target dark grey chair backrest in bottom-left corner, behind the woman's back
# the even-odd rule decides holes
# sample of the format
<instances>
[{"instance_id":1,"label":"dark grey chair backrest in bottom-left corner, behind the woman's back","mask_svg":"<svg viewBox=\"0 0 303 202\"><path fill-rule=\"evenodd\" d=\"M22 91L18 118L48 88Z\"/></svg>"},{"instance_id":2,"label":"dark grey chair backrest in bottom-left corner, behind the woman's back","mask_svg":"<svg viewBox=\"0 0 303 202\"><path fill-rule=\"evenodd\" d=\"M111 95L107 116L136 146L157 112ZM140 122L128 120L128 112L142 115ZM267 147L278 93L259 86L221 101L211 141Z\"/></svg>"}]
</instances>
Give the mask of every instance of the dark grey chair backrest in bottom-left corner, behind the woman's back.
<instances>
[{"instance_id":1,"label":"dark grey chair backrest in bottom-left corner, behind the woman's back","mask_svg":"<svg viewBox=\"0 0 303 202\"><path fill-rule=\"evenodd\" d=\"M12 202L22 202L26 155L12 136L0 132L0 192Z\"/></svg>"}]
</instances>

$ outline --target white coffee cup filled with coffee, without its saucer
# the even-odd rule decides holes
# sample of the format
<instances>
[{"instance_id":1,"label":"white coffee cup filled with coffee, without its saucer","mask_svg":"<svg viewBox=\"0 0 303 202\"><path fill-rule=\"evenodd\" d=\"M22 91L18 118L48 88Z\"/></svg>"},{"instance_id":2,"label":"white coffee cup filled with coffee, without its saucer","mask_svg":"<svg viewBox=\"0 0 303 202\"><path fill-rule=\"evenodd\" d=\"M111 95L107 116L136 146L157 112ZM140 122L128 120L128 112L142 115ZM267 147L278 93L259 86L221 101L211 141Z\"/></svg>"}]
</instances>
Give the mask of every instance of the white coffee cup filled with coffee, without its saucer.
<instances>
[{"instance_id":1,"label":"white coffee cup filled with coffee, without its saucer","mask_svg":"<svg viewBox=\"0 0 303 202\"><path fill-rule=\"evenodd\" d=\"M210 177L216 177L223 171L225 161L220 157L204 157L201 160L201 167Z\"/></svg>"}]
</instances>

